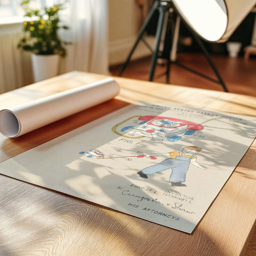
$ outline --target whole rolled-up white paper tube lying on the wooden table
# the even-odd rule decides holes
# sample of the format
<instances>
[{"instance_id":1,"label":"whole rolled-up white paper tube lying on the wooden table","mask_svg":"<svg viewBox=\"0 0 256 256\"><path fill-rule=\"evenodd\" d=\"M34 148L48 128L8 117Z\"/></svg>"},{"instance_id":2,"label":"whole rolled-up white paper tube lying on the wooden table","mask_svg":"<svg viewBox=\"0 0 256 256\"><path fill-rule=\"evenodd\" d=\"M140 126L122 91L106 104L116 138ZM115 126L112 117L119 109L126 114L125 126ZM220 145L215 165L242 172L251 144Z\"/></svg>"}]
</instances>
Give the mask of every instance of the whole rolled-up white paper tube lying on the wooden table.
<instances>
[{"instance_id":1,"label":"whole rolled-up white paper tube lying on the wooden table","mask_svg":"<svg viewBox=\"0 0 256 256\"><path fill-rule=\"evenodd\" d=\"M58 94L0 111L0 132L15 138L49 123L112 99L119 93L112 78L82 85Z\"/></svg>"}]
</instances>

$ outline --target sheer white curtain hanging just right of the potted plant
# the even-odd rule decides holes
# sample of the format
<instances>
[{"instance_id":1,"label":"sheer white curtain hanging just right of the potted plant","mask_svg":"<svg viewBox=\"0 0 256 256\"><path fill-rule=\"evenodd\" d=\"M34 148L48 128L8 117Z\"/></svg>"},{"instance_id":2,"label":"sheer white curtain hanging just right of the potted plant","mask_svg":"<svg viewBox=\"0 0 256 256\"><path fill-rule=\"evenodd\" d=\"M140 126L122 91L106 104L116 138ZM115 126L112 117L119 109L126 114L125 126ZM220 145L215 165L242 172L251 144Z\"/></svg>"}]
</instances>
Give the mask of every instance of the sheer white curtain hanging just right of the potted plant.
<instances>
[{"instance_id":1,"label":"sheer white curtain hanging just right of the potted plant","mask_svg":"<svg viewBox=\"0 0 256 256\"><path fill-rule=\"evenodd\" d=\"M108 74L108 1L73 0L68 10L70 29L61 36L71 44L66 46L60 72Z\"/></svg>"}]
</instances>

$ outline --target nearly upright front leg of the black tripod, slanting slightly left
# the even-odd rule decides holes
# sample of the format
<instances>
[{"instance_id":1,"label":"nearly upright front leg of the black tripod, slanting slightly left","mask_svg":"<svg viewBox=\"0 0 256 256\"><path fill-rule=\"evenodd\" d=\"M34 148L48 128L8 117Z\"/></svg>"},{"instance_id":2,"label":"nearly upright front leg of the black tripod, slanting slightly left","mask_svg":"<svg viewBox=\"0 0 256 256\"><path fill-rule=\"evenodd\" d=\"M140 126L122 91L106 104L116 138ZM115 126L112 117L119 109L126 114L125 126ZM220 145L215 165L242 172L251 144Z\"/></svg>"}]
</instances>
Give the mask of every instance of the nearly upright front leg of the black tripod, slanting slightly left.
<instances>
[{"instance_id":1,"label":"nearly upright front leg of the black tripod, slanting slightly left","mask_svg":"<svg viewBox=\"0 0 256 256\"><path fill-rule=\"evenodd\" d=\"M154 51L152 61L151 61L149 81L153 81L153 77L154 77L156 59L158 57L159 45L160 45L160 41L161 41L162 27L163 27L163 24L164 24L165 11L166 11L167 8L169 8L168 5L160 5L160 7L159 7L158 26L156 28L156 35L155 35L156 44L155 44L155 51Z\"/></svg>"}]
</instances>

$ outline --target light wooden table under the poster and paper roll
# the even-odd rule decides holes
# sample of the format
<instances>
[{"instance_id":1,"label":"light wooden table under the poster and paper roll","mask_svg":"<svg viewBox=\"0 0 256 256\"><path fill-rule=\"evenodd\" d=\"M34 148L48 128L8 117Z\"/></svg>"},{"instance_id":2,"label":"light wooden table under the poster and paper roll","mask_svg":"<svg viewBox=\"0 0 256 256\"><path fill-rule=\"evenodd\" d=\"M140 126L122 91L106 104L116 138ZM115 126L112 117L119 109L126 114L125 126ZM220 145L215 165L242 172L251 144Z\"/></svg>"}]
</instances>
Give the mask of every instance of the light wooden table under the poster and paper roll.
<instances>
[{"instance_id":1,"label":"light wooden table under the poster and paper roll","mask_svg":"<svg viewBox=\"0 0 256 256\"><path fill-rule=\"evenodd\" d=\"M2 94L0 107L105 77L73 71ZM138 100L256 116L254 97L115 79L120 94L89 115L82 111L15 139L1 135L0 162ZM192 234L0 175L0 255L256 255L255 150L254 141Z\"/></svg>"}]
</instances>

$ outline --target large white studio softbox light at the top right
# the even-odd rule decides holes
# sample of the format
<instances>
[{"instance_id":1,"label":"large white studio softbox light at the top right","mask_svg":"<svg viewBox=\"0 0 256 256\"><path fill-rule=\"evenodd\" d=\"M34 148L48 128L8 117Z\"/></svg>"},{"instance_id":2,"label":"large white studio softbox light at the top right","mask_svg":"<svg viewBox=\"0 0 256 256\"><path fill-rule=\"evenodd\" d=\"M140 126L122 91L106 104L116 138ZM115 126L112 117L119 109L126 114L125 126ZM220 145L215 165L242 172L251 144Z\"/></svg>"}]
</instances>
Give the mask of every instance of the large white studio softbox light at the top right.
<instances>
[{"instance_id":1,"label":"large white studio softbox light at the top right","mask_svg":"<svg viewBox=\"0 0 256 256\"><path fill-rule=\"evenodd\" d=\"M226 42L255 6L255 0L172 0L178 14L200 37Z\"/></svg>"}]
</instances>

